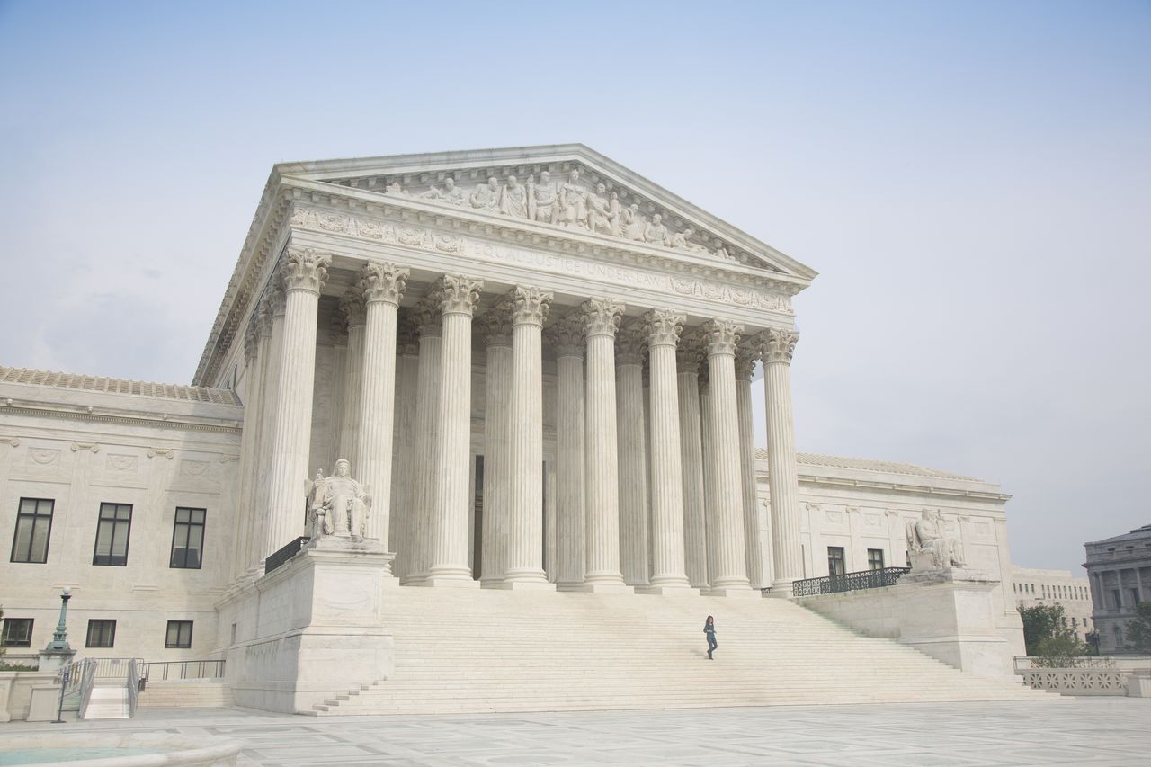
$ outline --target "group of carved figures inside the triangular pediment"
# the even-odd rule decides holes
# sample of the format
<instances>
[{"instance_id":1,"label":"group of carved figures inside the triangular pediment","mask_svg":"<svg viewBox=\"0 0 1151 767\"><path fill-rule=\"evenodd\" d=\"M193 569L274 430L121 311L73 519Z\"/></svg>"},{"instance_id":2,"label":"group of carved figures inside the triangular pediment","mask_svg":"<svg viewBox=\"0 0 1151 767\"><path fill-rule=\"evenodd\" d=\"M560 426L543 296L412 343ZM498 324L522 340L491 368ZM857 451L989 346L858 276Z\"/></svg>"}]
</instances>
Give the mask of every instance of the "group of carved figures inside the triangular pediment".
<instances>
[{"instance_id":1,"label":"group of carved figures inside the triangular pediment","mask_svg":"<svg viewBox=\"0 0 1151 767\"><path fill-rule=\"evenodd\" d=\"M536 223L584 229L620 240L735 260L723 245L709 250L693 242L695 229L691 227L674 231L660 213L648 219L640 213L638 203L620 205L619 193L615 190L609 192L607 184L597 183L595 189L585 187L577 169L569 172L567 180L562 182L552 182L551 173L543 170L539 182L534 175L529 175L525 183L520 183L516 176L508 176L501 184L498 179L491 176L487 183L477 185L471 192L465 192L450 176L444 179L442 187L433 184L420 193L406 192L396 182L388 184L386 191L441 205L501 213Z\"/></svg>"}]
</instances>

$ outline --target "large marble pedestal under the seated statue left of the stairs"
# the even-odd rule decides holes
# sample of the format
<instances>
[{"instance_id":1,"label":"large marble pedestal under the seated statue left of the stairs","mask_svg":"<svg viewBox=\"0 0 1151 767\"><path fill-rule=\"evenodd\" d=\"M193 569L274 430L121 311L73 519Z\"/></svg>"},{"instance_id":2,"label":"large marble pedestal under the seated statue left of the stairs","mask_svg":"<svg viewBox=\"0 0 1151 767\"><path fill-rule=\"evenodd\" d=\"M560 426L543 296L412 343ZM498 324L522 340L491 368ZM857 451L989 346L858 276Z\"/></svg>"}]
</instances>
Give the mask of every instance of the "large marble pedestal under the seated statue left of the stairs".
<instances>
[{"instance_id":1,"label":"large marble pedestal under the seated statue left of the stairs","mask_svg":"<svg viewBox=\"0 0 1151 767\"><path fill-rule=\"evenodd\" d=\"M386 679L395 656L381 605L396 583L394 556L372 539L313 539L226 598L219 608L221 622L233 622L227 676L236 705L299 713Z\"/></svg>"}]
</instances>

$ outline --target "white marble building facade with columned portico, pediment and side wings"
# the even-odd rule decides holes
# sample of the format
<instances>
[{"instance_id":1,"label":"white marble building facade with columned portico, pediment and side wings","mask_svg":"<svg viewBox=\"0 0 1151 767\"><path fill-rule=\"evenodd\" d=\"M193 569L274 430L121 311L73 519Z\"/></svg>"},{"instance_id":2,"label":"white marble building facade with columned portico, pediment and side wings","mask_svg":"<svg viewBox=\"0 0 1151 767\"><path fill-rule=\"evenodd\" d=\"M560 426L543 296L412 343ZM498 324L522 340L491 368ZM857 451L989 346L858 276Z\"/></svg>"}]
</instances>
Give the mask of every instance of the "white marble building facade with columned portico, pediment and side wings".
<instances>
[{"instance_id":1,"label":"white marble building facade with columned portico, pediment and side wings","mask_svg":"<svg viewBox=\"0 0 1151 767\"><path fill-rule=\"evenodd\" d=\"M581 145L279 165L190 400L0 369L0 530L55 502L49 567L0 563L0 603L36 618L33 650L70 584L74 638L112 615L117 655L220 653L214 606L307 534L306 481L346 458L404 585L787 597L829 547L904 564L932 508L1017 630L997 486L796 456L792 296L814 278ZM138 509L124 567L90 564L102 502ZM166 567L176 507L207 509L199 570Z\"/></svg>"}]
</instances>

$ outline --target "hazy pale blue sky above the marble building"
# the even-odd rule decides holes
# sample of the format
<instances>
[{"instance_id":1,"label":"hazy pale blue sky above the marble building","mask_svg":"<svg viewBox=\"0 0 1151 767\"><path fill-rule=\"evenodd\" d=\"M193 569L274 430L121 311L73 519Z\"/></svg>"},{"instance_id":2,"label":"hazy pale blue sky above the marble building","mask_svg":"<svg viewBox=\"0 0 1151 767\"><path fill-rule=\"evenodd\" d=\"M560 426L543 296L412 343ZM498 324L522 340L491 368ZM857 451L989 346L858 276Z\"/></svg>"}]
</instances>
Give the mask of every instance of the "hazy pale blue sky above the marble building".
<instances>
[{"instance_id":1,"label":"hazy pale blue sky above the marble building","mask_svg":"<svg viewBox=\"0 0 1151 767\"><path fill-rule=\"evenodd\" d=\"M821 272L799 449L1151 522L1146 1L0 2L0 364L190 381L275 162L566 142Z\"/></svg>"}]
</instances>

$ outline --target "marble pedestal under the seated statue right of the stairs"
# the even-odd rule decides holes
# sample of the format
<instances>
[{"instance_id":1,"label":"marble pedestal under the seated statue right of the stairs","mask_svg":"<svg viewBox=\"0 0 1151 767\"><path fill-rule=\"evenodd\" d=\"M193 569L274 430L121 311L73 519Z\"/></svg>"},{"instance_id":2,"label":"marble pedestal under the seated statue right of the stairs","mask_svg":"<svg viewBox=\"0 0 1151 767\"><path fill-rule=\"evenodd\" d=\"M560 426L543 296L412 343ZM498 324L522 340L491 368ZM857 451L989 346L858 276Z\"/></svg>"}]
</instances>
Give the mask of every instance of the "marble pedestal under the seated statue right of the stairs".
<instances>
[{"instance_id":1,"label":"marble pedestal under the seated statue right of the stairs","mask_svg":"<svg viewBox=\"0 0 1151 767\"><path fill-rule=\"evenodd\" d=\"M991 591L998 583L966 568L913 569L891 587L899 641L976 676L1017 681L1009 643L996 624Z\"/></svg>"}]
</instances>

